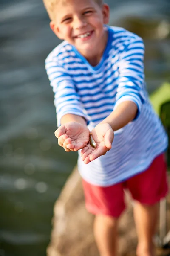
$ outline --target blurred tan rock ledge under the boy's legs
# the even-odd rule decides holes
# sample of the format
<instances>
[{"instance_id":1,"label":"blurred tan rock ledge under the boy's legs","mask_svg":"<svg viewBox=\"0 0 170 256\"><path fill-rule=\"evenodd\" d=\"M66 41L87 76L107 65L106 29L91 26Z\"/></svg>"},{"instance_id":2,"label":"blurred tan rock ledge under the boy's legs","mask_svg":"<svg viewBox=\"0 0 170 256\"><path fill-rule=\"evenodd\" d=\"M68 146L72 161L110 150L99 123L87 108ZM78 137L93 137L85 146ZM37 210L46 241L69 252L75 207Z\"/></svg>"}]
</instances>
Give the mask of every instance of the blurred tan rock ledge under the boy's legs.
<instances>
[{"instance_id":1,"label":"blurred tan rock ledge under the boy's legs","mask_svg":"<svg viewBox=\"0 0 170 256\"><path fill-rule=\"evenodd\" d=\"M133 206L128 193L125 200L127 209L119 222L119 256L135 256L137 237ZM170 205L170 197L168 204ZM170 223L169 211L167 215L167 223ZM47 256L99 256L94 241L93 221L94 215L85 209L81 177L76 166L54 206L53 229ZM159 250L157 255L166 254Z\"/></svg>"}]
</instances>

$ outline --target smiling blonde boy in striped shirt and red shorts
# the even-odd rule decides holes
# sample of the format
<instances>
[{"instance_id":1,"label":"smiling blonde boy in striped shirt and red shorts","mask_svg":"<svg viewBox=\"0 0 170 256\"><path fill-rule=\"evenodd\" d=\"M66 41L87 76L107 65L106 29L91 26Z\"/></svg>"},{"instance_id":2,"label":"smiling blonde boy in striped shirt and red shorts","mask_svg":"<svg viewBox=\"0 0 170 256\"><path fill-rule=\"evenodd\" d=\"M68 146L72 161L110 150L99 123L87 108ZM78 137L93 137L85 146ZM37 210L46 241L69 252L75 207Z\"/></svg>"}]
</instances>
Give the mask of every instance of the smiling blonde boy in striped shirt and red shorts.
<instances>
[{"instance_id":1,"label":"smiling blonde boy in striped shirt and red shorts","mask_svg":"<svg viewBox=\"0 0 170 256\"><path fill-rule=\"evenodd\" d=\"M109 7L102 0L44 3L51 29L64 40L45 61L57 108L55 135L65 151L79 153L99 253L117 255L126 188L135 200L136 254L153 256L158 202L168 190L167 135L145 88L142 39L107 26Z\"/></svg>"}]
</instances>

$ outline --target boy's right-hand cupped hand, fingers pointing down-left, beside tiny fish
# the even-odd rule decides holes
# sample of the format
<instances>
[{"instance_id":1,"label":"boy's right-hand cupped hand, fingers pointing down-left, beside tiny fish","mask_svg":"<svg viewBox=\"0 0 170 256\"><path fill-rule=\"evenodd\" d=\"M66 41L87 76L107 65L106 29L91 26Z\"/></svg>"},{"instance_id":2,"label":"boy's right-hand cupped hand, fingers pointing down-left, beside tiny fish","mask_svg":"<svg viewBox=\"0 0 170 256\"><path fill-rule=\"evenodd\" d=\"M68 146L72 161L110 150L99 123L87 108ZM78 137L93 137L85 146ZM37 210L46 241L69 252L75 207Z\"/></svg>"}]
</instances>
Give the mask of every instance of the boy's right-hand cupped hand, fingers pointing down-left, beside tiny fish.
<instances>
[{"instance_id":1,"label":"boy's right-hand cupped hand, fingers pointing down-left, beside tiny fish","mask_svg":"<svg viewBox=\"0 0 170 256\"><path fill-rule=\"evenodd\" d=\"M96 148L90 145L90 142L81 150L82 161L85 164L90 163L96 158L105 155L112 147L114 132L108 123L100 123L91 131L92 137L96 143Z\"/></svg>"}]
</instances>

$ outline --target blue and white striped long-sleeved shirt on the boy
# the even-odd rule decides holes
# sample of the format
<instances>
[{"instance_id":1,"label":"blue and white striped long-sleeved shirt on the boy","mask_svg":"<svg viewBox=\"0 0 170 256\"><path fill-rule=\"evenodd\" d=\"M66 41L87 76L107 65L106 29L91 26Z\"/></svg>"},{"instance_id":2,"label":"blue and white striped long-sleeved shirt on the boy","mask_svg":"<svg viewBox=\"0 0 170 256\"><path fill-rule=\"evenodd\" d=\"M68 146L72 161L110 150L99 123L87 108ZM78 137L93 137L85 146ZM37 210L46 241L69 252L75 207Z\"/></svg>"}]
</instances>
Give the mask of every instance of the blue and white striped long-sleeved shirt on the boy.
<instances>
[{"instance_id":1,"label":"blue and white striped long-sleeved shirt on the boy","mask_svg":"<svg viewBox=\"0 0 170 256\"><path fill-rule=\"evenodd\" d=\"M144 171L167 148L167 134L145 86L142 39L123 28L106 28L108 43L97 66L91 66L66 41L45 60L58 126L63 115L72 113L83 116L91 130L121 102L132 101L138 107L136 118L115 132L112 148L104 156L85 165L79 154L81 176L98 186L110 186Z\"/></svg>"}]
</instances>

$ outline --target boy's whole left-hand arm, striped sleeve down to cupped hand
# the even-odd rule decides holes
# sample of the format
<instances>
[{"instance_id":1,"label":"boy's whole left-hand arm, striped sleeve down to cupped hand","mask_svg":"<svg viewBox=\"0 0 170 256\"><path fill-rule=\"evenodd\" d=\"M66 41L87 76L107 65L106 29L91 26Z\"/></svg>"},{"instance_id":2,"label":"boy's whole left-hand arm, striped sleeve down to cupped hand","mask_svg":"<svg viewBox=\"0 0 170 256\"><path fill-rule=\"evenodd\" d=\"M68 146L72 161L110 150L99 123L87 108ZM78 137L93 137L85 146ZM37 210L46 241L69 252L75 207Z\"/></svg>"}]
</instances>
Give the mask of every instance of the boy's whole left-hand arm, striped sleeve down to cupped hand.
<instances>
[{"instance_id":1,"label":"boy's whole left-hand arm, striped sleeve down to cupped hand","mask_svg":"<svg viewBox=\"0 0 170 256\"><path fill-rule=\"evenodd\" d=\"M48 55L45 67L54 91L54 105L59 127L55 135L58 143L65 151L77 151L85 147L90 134L80 96L72 77L62 67L56 56Z\"/></svg>"}]
</instances>

